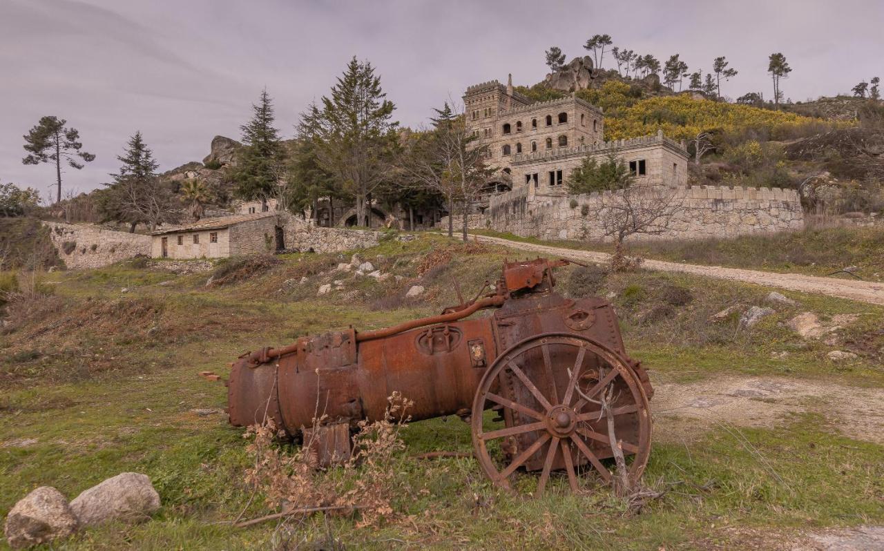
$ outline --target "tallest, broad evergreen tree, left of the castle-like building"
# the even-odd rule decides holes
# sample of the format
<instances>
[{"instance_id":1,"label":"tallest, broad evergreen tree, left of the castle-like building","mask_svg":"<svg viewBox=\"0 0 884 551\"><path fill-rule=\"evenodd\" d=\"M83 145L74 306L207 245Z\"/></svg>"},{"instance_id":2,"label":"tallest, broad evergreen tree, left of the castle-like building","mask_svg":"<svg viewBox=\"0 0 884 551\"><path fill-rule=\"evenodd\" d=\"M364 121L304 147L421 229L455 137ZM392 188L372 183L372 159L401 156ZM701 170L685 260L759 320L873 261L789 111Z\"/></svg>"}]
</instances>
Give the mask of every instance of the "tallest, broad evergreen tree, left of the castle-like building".
<instances>
[{"instance_id":1,"label":"tallest, broad evergreen tree, left of the castle-like building","mask_svg":"<svg viewBox=\"0 0 884 551\"><path fill-rule=\"evenodd\" d=\"M399 126L392 120L395 108L374 67L354 56L331 97L302 118L319 165L354 197L357 225L369 226L371 194L391 171Z\"/></svg>"}]
</instances>

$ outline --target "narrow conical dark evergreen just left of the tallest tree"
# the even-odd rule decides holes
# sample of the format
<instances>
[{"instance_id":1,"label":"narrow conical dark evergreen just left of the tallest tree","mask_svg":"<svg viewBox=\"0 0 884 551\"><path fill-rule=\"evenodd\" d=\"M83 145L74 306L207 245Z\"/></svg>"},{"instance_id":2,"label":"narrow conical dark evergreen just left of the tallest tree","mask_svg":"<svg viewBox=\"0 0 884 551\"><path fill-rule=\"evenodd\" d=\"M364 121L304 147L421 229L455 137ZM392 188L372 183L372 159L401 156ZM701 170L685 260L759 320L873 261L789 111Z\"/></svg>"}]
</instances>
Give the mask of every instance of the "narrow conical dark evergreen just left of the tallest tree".
<instances>
[{"instance_id":1,"label":"narrow conical dark evergreen just left of the tallest tree","mask_svg":"<svg viewBox=\"0 0 884 551\"><path fill-rule=\"evenodd\" d=\"M252 111L252 119L240 126L244 147L239 151L232 179L236 195L241 199L260 199L262 210L266 210L267 199L278 193L285 160L279 131L273 126L276 118L267 88L261 91L258 103L252 104Z\"/></svg>"}]
</instances>

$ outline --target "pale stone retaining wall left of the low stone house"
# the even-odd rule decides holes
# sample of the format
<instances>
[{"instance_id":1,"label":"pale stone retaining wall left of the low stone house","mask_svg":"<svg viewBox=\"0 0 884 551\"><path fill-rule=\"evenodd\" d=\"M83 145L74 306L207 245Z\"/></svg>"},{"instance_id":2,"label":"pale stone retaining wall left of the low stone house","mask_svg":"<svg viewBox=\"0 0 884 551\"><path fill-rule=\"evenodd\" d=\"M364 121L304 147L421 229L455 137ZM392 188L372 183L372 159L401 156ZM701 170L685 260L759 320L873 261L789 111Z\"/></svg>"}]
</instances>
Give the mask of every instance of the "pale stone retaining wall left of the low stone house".
<instances>
[{"instance_id":1,"label":"pale stone retaining wall left of the low stone house","mask_svg":"<svg viewBox=\"0 0 884 551\"><path fill-rule=\"evenodd\" d=\"M150 236L115 232L97 226L46 222L52 244L72 270L101 268L135 255L150 254ZM71 252L65 253L65 249Z\"/></svg>"}]
</instances>

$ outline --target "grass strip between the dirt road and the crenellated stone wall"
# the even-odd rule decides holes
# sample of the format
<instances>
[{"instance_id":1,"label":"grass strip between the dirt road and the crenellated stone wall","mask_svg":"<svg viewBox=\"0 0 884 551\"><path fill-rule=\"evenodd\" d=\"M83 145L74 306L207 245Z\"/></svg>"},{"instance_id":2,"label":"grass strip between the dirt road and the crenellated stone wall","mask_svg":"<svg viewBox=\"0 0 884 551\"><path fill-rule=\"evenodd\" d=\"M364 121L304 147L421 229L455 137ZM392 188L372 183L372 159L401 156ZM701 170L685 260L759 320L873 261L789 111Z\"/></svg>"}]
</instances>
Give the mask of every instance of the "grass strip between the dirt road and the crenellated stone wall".
<instances>
[{"instance_id":1,"label":"grass strip between the dirt road and the crenellated stone wall","mask_svg":"<svg viewBox=\"0 0 884 551\"><path fill-rule=\"evenodd\" d=\"M613 252L613 245L596 241L541 241L512 233L477 230L475 233L528 241L568 249ZM884 281L884 228L828 227L800 232L743 235L732 239L659 241L629 244L629 254L732 268L768 272L852 278L841 271L855 266L857 276L867 281Z\"/></svg>"}]
</instances>

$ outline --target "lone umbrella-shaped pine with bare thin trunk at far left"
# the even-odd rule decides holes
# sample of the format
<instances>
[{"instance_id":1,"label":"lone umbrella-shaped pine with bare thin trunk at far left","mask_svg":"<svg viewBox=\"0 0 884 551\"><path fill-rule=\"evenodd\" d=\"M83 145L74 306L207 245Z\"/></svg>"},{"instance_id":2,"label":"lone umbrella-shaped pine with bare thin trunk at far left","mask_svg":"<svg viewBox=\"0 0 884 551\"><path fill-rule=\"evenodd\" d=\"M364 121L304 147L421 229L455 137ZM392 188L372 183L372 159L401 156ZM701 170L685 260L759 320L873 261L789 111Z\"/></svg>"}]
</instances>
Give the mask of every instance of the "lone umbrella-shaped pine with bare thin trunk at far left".
<instances>
[{"instance_id":1,"label":"lone umbrella-shaped pine with bare thin trunk at far left","mask_svg":"<svg viewBox=\"0 0 884 551\"><path fill-rule=\"evenodd\" d=\"M27 157L21 159L25 165L40 165L52 162L56 165L57 194L61 201L61 165L65 162L71 168L80 170L83 163L95 160L95 155L82 151L80 131L65 126L65 119L42 117L24 136Z\"/></svg>"}]
</instances>

